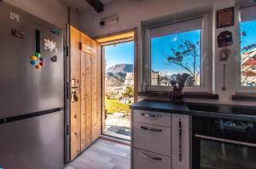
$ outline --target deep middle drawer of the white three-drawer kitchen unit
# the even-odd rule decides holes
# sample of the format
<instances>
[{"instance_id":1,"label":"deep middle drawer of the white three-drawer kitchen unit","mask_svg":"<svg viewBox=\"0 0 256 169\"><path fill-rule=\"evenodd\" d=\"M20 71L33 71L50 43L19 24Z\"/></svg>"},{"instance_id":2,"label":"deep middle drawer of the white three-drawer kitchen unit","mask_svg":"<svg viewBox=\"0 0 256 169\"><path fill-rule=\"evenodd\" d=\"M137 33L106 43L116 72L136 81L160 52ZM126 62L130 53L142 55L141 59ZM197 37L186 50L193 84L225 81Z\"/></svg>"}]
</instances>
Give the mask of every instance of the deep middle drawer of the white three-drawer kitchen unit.
<instances>
[{"instance_id":1,"label":"deep middle drawer of the white three-drawer kitchen unit","mask_svg":"<svg viewBox=\"0 0 256 169\"><path fill-rule=\"evenodd\" d=\"M133 145L138 149L171 156L171 127L133 122Z\"/></svg>"}]
</instances>

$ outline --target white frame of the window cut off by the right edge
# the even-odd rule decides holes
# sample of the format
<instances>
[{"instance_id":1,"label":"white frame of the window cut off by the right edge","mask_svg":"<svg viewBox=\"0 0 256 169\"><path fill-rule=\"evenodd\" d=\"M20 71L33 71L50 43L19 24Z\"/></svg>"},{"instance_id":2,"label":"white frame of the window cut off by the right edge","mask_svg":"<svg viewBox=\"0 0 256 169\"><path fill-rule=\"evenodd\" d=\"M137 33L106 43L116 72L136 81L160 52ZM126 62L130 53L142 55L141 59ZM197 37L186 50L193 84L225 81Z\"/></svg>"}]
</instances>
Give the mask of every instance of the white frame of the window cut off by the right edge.
<instances>
[{"instance_id":1,"label":"white frame of the window cut off by the right edge","mask_svg":"<svg viewBox=\"0 0 256 169\"><path fill-rule=\"evenodd\" d=\"M235 14L237 20L235 20L236 24L236 38L238 39L236 48L241 51L241 8L249 8L251 6L256 7L256 3L237 3L235 8ZM236 56L238 61L236 61L236 93L255 93L256 87L245 87L241 86L241 53L239 52Z\"/></svg>"}]
</instances>

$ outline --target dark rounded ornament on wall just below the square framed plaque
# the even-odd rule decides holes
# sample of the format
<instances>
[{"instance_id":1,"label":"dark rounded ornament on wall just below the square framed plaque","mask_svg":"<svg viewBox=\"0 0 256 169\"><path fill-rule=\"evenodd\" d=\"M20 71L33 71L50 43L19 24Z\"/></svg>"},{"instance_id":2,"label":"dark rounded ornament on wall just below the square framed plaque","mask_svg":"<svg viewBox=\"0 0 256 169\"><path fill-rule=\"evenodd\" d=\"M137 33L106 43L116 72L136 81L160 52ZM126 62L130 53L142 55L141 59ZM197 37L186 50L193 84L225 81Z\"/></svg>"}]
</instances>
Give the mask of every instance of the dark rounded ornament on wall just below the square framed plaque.
<instances>
[{"instance_id":1,"label":"dark rounded ornament on wall just below the square framed plaque","mask_svg":"<svg viewBox=\"0 0 256 169\"><path fill-rule=\"evenodd\" d=\"M233 44L231 31L222 31L218 35L218 48L227 47Z\"/></svg>"}]
</instances>

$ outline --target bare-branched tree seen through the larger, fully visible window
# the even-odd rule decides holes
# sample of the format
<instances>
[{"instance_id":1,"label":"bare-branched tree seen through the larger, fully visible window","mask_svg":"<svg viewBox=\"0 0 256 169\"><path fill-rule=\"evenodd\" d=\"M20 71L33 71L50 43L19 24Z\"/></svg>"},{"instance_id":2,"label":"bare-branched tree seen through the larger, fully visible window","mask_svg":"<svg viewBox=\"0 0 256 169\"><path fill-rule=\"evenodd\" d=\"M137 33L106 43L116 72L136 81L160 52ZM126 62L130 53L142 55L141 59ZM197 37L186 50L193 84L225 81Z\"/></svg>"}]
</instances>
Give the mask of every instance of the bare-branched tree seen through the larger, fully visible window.
<instances>
[{"instance_id":1,"label":"bare-branched tree seen through the larger, fully visible window","mask_svg":"<svg viewBox=\"0 0 256 169\"><path fill-rule=\"evenodd\" d=\"M167 56L170 65L177 65L186 70L196 81L200 74L201 42L192 42L189 38L179 40L171 47L172 55ZM200 62L199 62L200 63Z\"/></svg>"}]
</instances>

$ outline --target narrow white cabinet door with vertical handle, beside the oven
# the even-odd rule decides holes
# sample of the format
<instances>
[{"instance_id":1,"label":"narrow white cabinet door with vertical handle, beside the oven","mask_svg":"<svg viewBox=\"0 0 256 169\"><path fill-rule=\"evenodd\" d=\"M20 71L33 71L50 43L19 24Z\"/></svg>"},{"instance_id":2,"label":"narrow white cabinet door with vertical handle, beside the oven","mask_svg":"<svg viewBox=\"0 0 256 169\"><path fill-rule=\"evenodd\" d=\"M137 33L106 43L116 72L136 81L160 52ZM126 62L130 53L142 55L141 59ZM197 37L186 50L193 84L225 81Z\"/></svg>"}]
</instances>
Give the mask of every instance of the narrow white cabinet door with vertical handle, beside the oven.
<instances>
[{"instance_id":1,"label":"narrow white cabinet door with vertical handle, beside the oven","mask_svg":"<svg viewBox=\"0 0 256 169\"><path fill-rule=\"evenodd\" d=\"M172 169L191 168L190 116L172 114Z\"/></svg>"}]
</instances>

